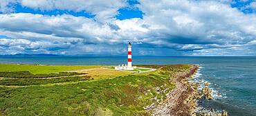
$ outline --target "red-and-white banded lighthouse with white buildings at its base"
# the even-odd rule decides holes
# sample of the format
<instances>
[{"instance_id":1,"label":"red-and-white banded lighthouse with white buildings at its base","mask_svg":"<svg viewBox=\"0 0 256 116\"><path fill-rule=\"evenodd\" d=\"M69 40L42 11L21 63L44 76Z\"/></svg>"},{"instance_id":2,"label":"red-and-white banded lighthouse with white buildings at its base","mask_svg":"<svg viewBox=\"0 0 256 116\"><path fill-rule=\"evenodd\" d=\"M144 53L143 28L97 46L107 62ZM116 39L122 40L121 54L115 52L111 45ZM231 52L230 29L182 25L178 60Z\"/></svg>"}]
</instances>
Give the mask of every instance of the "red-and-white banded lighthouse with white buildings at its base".
<instances>
[{"instance_id":1,"label":"red-and-white banded lighthouse with white buildings at its base","mask_svg":"<svg viewBox=\"0 0 256 116\"><path fill-rule=\"evenodd\" d=\"M131 43L128 44L128 58L127 65L118 65L115 67L115 70L134 70L136 67L131 65Z\"/></svg>"}]
</instances>

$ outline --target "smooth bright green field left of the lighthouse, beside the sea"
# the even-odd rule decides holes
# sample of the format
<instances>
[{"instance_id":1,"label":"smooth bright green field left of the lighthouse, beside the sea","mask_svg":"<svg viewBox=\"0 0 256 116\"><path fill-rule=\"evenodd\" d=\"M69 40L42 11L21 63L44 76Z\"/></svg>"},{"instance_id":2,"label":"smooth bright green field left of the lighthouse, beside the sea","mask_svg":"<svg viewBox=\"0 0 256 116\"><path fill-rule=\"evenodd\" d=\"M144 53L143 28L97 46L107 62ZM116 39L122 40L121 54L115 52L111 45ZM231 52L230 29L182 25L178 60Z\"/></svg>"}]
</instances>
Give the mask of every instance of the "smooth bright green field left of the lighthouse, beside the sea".
<instances>
[{"instance_id":1,"label":"smooth bright green field left of the lighthouse, beside the sea","mask_svg":"<svg viewBox=\"0 0 256 116\"><path fill-rule=\"evenodd\" d=\"M77 69L91 69L102 66L53 66L53 65L9 65L0 64L0 71L30 71L31 73L55 73Z\"/></svg>"}]
</instances>

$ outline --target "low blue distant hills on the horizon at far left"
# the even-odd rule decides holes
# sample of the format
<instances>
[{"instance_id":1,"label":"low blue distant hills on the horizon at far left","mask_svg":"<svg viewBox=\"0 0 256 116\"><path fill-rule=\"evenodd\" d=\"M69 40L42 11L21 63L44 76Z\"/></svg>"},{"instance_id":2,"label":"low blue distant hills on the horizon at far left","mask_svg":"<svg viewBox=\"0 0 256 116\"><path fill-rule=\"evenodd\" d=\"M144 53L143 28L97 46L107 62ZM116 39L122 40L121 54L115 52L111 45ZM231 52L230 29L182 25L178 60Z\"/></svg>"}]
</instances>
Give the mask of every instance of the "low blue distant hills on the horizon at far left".
<instances>
[{"instance_id":1,"label":"low blue distant hills on the horizon at far left","mask_svg":"<svg viewBox=\"0 0 256 116\"><path fill-rule=\"evenodd\" d=\"M0 55L0 57L61 57L56 54L7 54Z\"/></svg>"}]
</instances>

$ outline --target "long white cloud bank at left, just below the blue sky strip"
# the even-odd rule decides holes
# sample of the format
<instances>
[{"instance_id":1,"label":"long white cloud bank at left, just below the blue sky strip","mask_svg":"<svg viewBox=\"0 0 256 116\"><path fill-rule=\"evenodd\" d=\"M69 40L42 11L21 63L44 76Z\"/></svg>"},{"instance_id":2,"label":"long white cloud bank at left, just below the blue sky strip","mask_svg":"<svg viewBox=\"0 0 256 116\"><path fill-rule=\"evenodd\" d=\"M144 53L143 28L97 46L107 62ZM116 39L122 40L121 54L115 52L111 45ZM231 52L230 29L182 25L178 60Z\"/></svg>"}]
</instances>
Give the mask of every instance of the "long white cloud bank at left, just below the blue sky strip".
<instances>
[{"instance_id":1,"label":"long white cloud bank at left, just below the blue sky strip","mask_svg":"<svg viewBox=\"0 0 256 116\"><path fill-rule=\"evenodd\" d=\"M26 36L30 38L33 36L35 38L46 37L44 39L50 38L51 40L61 40L62 37L85 38L89 43L100 43L106 39L105 33L111 30L109 25L97 23L93 19L66 14L62 16L28 13L1 14L0 20L2 32L12 32L8 36L18 34L15 37L24 35L24 38ZM13 34L13 32L17 33Z\"/></svg>"}]
</instances>

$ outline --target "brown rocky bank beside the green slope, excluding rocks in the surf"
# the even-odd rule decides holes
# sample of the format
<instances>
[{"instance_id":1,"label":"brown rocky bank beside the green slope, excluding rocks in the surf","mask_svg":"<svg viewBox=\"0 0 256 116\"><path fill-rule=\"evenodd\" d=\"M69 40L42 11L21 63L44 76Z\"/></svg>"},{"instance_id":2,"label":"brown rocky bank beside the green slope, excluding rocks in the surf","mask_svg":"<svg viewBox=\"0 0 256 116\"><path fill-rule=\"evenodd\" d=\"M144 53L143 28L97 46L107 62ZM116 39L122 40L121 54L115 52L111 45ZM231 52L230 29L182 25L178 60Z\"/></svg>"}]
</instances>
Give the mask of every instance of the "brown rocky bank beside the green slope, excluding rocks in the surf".
<instances>
[{"instance_id":1,"label":"brown rocky bank beside the green slope, excluding rocks in the surf","mask_svg":"<svg viewBox=\"0 0 256 116\"><path fill-rule=\"evenodd\" d=\"M152 109L152 115L195 115L196 98L201 95L199 91L188 84L188 78L192 76L198 66L192 65L189 71L177 73L173 76L172 82L175 82L176 88L167 93L165 101L161 102Z\"/></svg>"}]
</instances>

